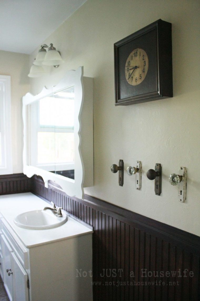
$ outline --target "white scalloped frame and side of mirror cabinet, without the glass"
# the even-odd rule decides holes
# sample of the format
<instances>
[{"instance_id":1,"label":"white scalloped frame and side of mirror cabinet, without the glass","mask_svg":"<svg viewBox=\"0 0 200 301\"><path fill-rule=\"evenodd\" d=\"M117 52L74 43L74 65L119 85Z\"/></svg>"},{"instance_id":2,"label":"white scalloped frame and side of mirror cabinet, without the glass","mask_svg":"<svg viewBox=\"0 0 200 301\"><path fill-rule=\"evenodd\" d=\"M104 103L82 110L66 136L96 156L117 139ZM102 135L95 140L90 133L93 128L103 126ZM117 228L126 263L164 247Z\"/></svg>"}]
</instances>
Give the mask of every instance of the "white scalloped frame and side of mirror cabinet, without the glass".
<instances>
[{"instance_id":1,"label":"white scalloped frame and side of mirror cabinet, without the glass","mask_svg":"<svg viewBox=\"0 0 200 301\"><path fill-rule=\"evenodd\" d=\"M74 180L29 165L30 157L30 106L41 98L74 86ZM93 186L93 82L83 77L83 67L68 71L58 85L50 89L44 87L38 95L27 93L23 96L23 173L31 178L40 175L48 187L48 181L54 181L62 187L68 196L84 198L84 187Z\"/></svg>"}]
</instances>

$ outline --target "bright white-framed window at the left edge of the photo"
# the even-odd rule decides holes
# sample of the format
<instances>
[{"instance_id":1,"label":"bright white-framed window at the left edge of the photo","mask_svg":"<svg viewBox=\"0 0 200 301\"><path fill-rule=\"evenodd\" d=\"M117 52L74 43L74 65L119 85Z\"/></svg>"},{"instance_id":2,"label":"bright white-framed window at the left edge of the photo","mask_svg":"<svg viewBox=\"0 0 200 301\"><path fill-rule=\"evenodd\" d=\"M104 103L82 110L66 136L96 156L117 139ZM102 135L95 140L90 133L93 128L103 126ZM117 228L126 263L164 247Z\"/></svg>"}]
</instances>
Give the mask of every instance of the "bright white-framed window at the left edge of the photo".
<instances>
[{"instance_id":1,"label":"bright white-framed window at the left edge of the photo","mask_svg":"<svg viewBox=\"0 0 200 301\"><path fill-rule=\"evenodd\" d=\"M11 77L0 75L0 175L11 173Z\"/></svg>"}]
</instances>

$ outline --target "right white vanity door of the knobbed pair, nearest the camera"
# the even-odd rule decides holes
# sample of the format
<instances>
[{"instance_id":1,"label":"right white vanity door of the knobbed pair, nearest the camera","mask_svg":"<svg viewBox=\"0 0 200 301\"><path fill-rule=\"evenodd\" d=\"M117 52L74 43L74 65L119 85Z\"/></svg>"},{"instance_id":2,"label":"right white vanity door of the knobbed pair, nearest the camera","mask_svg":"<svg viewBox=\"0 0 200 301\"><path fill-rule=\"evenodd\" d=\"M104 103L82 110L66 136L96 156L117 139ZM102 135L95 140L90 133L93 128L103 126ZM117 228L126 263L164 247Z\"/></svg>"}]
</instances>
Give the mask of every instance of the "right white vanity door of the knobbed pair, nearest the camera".
<instances>
[{"instance_id":1,"label":"right white vanity door of the knobbed pair, nearest the camera","mask_svg":"<svg viewBox=\"0 0 200 301\"><path fill-rule=\"evenodd\" d=\"M13 296L15 301L28 301L28 275L19 262L17 256L11 253L12 271L13 271Z\"/></svg>"}]
</instances>

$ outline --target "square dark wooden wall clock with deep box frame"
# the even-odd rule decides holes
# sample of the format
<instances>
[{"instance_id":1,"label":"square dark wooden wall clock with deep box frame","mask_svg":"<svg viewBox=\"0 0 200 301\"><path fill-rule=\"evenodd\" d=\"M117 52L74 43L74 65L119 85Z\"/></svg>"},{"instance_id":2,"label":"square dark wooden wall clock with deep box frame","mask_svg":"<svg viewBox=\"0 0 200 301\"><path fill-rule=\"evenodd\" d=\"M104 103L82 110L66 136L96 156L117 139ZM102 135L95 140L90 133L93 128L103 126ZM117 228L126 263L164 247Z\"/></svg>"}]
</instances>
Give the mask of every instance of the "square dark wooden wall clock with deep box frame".
<instances>
[{"instance_id":1,"label":"square dark wooden wall clock with deep box frame","mask_svg":"<svg viewBox=\"0 0 200 301\"><path fill-rule=\"evenodd\" d=\"M173 97L171 23L157 20L114 44L115 105Z\"/></svg>"}]
</instances>

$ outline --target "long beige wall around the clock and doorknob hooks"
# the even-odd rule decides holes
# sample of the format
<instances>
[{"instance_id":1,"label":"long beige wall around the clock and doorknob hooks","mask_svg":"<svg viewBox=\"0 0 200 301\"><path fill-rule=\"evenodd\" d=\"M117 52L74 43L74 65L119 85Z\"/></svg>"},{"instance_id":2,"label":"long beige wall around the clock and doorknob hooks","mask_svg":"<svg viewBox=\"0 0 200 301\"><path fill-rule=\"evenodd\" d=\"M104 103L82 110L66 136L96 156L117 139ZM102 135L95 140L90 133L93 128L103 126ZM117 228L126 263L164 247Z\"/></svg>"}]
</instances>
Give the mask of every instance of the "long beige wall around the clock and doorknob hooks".
<instances>
[{"instance_id":1,"label":"long beige wall around the clock and doorknob hooks","mask_svg":"<svg viewBox=\"0 0 200 301\"><path fill-rule=\"evenodd\" d=\"M200 88L198 0L88 0L46 39L65 64L43 79L31 79L33 94L84 66L94 78L94 186L85 193L200 235ZM172 23L174 97L114 106L114 42L162 19ZM38 45L39 47L39 45ZM38 49L37 49L38 50ZM30 56L30 64L37 50ZM142 162L142 188L125 172L124 185L110 166ZM162 194L146 172L162 164ZM188 171L186 203L168 182L180 166Z\"/></svg>"}]
</instances>

